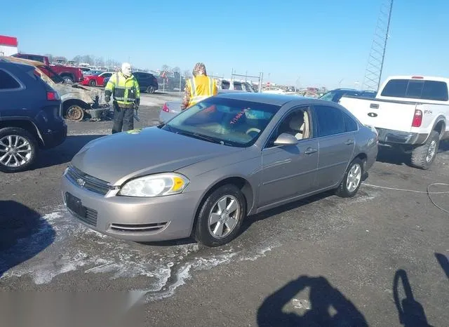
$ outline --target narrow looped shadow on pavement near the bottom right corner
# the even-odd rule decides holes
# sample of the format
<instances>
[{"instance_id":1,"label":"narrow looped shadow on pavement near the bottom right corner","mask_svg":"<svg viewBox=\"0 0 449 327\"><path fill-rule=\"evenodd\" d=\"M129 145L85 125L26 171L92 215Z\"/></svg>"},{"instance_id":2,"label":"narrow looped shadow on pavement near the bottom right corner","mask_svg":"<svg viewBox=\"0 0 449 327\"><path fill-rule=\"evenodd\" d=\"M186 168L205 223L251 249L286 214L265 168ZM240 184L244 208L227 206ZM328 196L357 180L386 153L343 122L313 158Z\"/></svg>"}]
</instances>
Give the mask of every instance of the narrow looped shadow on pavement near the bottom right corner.
<instances>
[{"instance_id":1,"label":"narrow looped shadow on pavement near the bottom right corner","mask_svg":"<svg viewBox=\"0 0 449 327\"><path fill-rule=\"evenodd\" d=\"M403 292L399 291L399 281L402 281ZM405 296L405 298L401 300L401 296ZM431 326L427 322L424 307L422 307L420 302L417 302L413 296L410 281L408 280L406 271L403 269L398 269L396 274L394 274L393 298L396 309L398 310L398 319L401 325L405 327Z\"/></svg>"}]
</instances>

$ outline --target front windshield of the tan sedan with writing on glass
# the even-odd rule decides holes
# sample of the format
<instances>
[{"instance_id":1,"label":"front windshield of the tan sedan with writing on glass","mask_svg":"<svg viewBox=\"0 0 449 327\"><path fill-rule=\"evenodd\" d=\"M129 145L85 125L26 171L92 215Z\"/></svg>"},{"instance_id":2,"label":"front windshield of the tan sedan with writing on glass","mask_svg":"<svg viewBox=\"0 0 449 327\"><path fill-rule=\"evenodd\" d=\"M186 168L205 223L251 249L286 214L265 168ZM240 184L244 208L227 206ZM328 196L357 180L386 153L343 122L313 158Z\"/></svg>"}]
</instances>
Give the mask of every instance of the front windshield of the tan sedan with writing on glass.
<instances>
[{"instance_id":1,"label":"front windshield of the tan sedan with writing on glass","mask_svg":"<svg viewBox=\"0 0 449 327\"><path fill-rule=\"evenodd\" d=\"M181 112L161 128L208 142L249 147L279 108L279 105L212 97Z\"/></svg>"}]
</instances>

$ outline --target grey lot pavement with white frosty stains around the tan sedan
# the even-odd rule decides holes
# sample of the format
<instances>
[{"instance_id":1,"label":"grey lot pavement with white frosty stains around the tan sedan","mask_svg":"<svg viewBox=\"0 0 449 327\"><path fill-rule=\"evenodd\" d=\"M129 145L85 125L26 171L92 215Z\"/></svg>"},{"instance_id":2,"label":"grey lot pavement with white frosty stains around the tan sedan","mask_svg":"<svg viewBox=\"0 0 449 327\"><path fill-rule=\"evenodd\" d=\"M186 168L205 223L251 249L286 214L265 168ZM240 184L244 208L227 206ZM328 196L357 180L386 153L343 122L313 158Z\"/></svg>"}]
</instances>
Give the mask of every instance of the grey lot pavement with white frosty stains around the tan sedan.
<instances>
[{"instance_id":1,"label":"grey lot pavement with white frosty stains around the tan sedan","mask_svg":"<svg viewBox=\"0 0 449 327\"><path fill-rule=\"evenodd\" d=\"M176 96L142 95L135 126L156 124ZM62 206L62 171L112 121L68 125L67 141L33 171L0 175L1 291L135 290L146 326L401 326L402 306L402 321L448 326L449 214L425 193L449 182L447 143L429 171L382 153L366 180L420 192L362 185L353 199L314 196L248 218L238 239L209 249L189 239L121 241L74 221ZM449 210L448 194L432 199Z\"/></svg>"}]
</instances>

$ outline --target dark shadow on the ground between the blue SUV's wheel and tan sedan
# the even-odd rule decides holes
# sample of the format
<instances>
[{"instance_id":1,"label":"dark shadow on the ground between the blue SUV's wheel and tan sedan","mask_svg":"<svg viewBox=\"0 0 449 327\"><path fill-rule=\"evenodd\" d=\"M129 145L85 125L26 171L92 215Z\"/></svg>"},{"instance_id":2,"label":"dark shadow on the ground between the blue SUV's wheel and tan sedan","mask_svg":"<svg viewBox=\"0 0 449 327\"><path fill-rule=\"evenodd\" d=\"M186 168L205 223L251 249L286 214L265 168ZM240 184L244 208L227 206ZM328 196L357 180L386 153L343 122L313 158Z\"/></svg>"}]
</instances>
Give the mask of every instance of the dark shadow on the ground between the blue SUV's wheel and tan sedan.
<instances>
[{"instance_id":1,"label":"dark shadow on the ground between the blue SUV's wheel and tan sedan","mask_svg":"<svg viewBox=\"0 0 449 327\"><path fill-rule=\"evenodd\" d=\"M43 150L36 161L35 169L58 166L72 160L74 155L91 140L106 135L68 135L67 139L53 149Z\"/></svg>"}]
</instances>

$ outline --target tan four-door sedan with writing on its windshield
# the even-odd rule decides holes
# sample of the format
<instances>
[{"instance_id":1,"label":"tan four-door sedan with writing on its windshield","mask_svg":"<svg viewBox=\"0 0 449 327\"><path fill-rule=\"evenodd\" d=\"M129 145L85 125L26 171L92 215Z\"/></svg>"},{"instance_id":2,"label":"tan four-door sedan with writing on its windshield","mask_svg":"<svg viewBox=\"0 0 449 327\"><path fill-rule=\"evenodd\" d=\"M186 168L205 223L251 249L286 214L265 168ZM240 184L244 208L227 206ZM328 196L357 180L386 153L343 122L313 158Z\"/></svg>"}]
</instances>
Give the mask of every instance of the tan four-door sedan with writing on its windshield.
<instances>
[{"instance_id":1,"label":"tan four-door sedan with writing on its windshield","mask_svg":"<svg viewBox=\"0 0 449 327\"><path fill-rule=\"evenodd\" d=\"M332 189L354 196L376 156L377 133L334 102L229 92L167 124L89 142L62 194L103 234L220 246L247 215Z\"/></svg>"}]
</instances>

